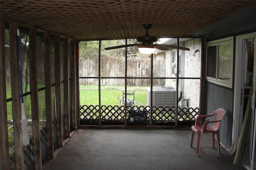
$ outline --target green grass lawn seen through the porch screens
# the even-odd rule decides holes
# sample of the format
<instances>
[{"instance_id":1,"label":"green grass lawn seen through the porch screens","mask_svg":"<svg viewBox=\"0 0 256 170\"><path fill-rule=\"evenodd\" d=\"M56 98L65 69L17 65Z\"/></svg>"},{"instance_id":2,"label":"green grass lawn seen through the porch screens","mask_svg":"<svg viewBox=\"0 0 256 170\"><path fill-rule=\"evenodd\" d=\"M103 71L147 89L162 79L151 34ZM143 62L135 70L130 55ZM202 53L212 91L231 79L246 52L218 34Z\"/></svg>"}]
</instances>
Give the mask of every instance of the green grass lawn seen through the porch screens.
<instances>
[{"instance_id":1,"label":"green grass lawn seen through the porch screens","mask_svg":"<svg viewBox=\"0 0 256 170\"><path fill-rule=\"evenodd\" d=\"M43 87L43 85L38 85L38 88ZM146 98L147 98L147 87L127 87L127 90L135 90L134 91L134 99L135 105L137 106L146 106ZM25 86L23 87L25 92ZM29 90L29 86L27 87ZM101 105L118 105L120 106L119 98L122 98L122 90L124 90L124 86L101 86ZM54 92L53 92L54 93ZM11 87L8 86L6 88L6 97L11 98ZM132 96L127 96L128 99L132 98ZM46 119L45 116L45 91L42 90L38 92L38 100L39 100L39 114L40 120ZM98 86L80 86L80 105L99 105L99 90ZM30 95L24 96L24 106L26 118L31 119L31 99ZM12 101L7 102L7 119L11 120L12 118Z\"/></svg>"}]
</instances>

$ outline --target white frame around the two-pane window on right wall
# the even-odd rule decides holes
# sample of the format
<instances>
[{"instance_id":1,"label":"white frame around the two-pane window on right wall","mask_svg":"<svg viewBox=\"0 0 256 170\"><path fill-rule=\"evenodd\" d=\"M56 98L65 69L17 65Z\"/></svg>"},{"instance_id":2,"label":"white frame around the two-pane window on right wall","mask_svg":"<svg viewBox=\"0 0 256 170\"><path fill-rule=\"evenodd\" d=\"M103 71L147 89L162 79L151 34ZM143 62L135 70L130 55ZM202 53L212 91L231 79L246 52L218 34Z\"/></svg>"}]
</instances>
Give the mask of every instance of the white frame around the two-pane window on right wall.
<instances>
[{"instance_id":1,"label":"white frame around the two-pane window on right wall","mask_svg":"<svg viewBox=\"0 0 256 170\"><path fill-rule=\"evenodd\" d=\"M219 46L223 44L231 44L231 59L230 59L230 81L222 80L218 78L218 61L219 61ZM217 46L216 50L216 74L215 78L207 76L208 67L208 47ZM228 88L233 88L233 62L234 62L234 37L227 37L223 39L218 39L214 41L209 41L206 45L206 81L218 84L220 86L225 86Z\"/></svg>"}]
</instances>

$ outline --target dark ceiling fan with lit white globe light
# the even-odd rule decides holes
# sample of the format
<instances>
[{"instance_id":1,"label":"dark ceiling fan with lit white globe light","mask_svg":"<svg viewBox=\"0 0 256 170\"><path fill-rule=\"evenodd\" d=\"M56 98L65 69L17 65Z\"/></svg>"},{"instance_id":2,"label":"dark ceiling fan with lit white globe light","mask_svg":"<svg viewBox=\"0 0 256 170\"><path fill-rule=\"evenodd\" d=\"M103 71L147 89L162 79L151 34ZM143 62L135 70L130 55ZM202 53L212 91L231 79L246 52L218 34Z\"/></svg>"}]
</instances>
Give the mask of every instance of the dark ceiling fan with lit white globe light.
<instances>
[{"instance_id":1,"label":"dark ceiling fan with lit white globe light","mask_svg":"<svg viewBox=\"0 0 256 170\"><path fill-rule=\"evenodd\" d=\"M138 50L140 51L140 53L144 53L144 54L151 54L154 52L155 49L160 49L163 51L166 51L169 48L188 50L188 51L190 50L189 48L179 47L176 45L153 44L154 42L157 41L157 37L150 36L148 34L148 30L152 27L152 24L145 24L145 25L142 25L142 27L146 30L146 34L144 36L138 36L136 38L138 42L141 42L141 44L118 45L114 47L107 47L105 48L105 50L118 49L123 47L132 47L132 46L138 46L139 47Z\"/></svg>"}]
</instances>

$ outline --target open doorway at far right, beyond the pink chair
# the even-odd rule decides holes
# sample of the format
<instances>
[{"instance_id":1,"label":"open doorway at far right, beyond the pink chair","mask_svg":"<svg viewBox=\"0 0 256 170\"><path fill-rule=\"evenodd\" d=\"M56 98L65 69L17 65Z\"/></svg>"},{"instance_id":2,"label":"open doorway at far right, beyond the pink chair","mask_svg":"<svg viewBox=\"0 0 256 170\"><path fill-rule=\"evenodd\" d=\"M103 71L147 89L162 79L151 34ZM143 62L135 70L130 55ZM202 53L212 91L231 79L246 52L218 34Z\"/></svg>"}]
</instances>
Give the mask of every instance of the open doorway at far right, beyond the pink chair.
<instances>
[{"instance_id":1,"label":"open doorway at far right, beyond the pink chair","mask_svg":"<svg viewBox=\"0 0 256 170\"><path fill-rule=\"evenodd\" d=\"M250 112L250 145L248 150L249 162L246 168L255 169L255 78L256 78L256 33L240 35L236 37L236 65L234 83L234 115L232 144L238 139L242 123L247 110ZM250 96L252 92L252 96ZM248 102L250 105L247 104Z\"/></svg>"}]
</instances>

